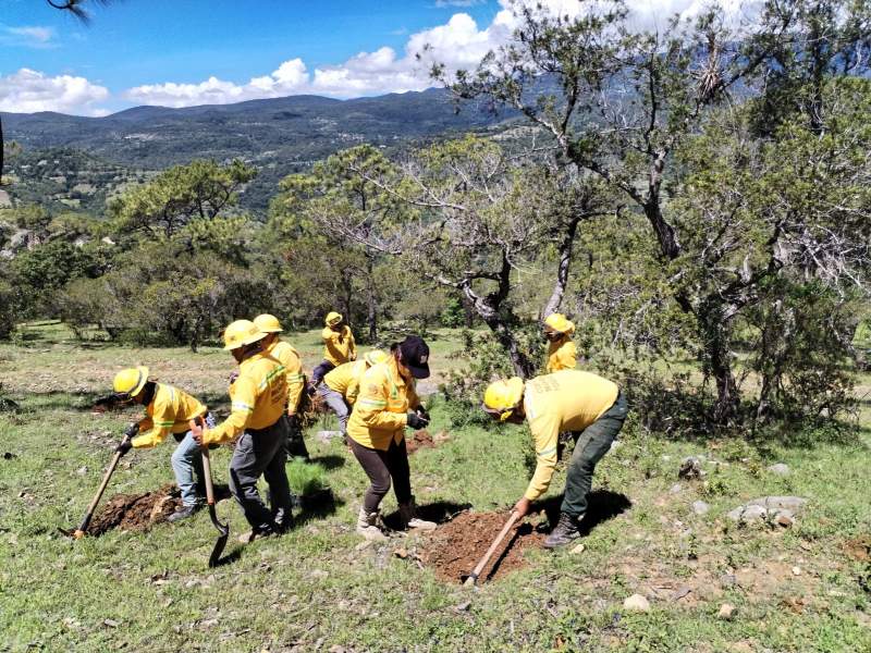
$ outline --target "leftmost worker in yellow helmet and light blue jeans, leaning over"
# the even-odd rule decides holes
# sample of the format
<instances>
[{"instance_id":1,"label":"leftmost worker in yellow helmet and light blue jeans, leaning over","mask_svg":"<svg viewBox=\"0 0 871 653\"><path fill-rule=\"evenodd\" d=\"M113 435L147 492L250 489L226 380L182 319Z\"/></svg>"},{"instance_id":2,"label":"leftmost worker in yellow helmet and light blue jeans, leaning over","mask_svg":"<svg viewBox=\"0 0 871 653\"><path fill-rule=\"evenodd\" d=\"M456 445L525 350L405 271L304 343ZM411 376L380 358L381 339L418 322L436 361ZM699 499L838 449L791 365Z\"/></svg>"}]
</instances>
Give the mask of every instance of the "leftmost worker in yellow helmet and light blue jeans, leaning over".
<instances>
[{"instance_id":1,"label":"leftmost worker in yellow helmet and light blue jeans, leaning over","mask_svg":"<svg viewBox=\"0 0 871 653\"><path fill-rule=\"evenodd\" d=\"M145 406L145 417L127 427L116 451L123 456L131 448L150 448L172 434L179 445L170 463L175 482L182 492L182 506L170 515L168 521L181 521L204 506L205 480L199 445L191 433L188 422L203 417L207 424L214 420L199 401L165 383L148 378L147 367L127 368L118 372L112 382L114 397L119 403L135 403ZM136 435L139 433L139 435Z\"/></svg>"}]
</instances>

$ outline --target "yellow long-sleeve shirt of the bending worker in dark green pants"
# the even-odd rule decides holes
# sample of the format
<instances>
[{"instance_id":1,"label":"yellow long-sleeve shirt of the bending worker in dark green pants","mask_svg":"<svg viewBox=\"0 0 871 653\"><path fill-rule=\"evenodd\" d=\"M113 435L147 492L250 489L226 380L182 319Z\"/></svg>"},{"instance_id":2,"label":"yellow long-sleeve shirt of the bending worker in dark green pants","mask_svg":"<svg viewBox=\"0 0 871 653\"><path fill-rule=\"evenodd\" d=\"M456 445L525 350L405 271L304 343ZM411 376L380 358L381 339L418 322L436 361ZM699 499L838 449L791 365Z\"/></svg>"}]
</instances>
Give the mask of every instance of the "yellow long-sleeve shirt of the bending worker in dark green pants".
<instances>
[{"instance_id":1,"label":"yellow long-sleeve shirt of the bending worker in dark green pants","mask_svg":"<svg viewBox=\"0 0 871 653\"><path fill-rule=\"evenodd\" d=\"M524 410L536 447L536 471L524 496L535 501L551 484L562 431L580 431L608 411L617 384L578 370L560 370L526 382Z\"/></svg>"}]
</instances>

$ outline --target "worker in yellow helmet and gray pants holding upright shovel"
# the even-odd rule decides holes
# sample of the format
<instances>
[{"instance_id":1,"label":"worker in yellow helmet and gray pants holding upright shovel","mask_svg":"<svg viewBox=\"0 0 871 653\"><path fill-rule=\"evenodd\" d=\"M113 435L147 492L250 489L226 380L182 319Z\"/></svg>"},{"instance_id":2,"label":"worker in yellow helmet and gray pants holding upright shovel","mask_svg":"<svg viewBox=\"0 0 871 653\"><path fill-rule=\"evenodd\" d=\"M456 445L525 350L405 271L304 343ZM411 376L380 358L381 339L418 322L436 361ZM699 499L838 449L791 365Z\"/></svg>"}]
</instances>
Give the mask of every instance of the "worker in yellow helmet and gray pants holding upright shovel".
<instances>
[{"instance_id":1,"label":"worker in yellow helmet and gray pants holding upright shovel","mask_svg":"<svg viewBox=\"0 0 871 653\"><path fill-rule=\"evenodd\" d=\"M287 377L284 366L263 350L266 333L249 320L236 320L224 330L224 349L238 364L238 377L230 386L231 412L214 428L194 433L200 445L235 442L230 461L230 492L242 507L250 532L240 538L284 532L293 526L291 488L284 470L287 440ZM271 512L257 480L269 484Z\"/></svg>"}]
</instances>

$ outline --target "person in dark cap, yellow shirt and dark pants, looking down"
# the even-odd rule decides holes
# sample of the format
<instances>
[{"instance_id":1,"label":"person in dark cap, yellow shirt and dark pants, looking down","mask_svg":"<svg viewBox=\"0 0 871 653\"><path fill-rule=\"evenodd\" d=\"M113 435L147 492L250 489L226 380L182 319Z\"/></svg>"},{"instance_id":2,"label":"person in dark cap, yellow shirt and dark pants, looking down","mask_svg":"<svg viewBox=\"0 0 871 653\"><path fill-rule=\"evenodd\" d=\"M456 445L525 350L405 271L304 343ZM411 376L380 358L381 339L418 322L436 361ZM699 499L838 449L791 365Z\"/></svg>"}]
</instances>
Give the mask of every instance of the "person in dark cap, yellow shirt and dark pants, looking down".
<instances>
[{"instance_id":1,"label":"person in dark cap, yellow shirt and dark pants, looking down","mask_svg":"<svg viewBox=\"0 0 871 653\"><path fill-rule=\"evenodd\" d=\"M412 495L406 427L419 430L429 415L415 392L415 380L429 377L429 346L417 335L390 347L387 361L373 365L360 380L360 390L347 423L351 451L369 477L370 485L357 516L357 532L367 540L383 540L378 527L379 506L390 490L400 504L404 528L433 529L418 519Z\"/></svg>"}]
</instances>

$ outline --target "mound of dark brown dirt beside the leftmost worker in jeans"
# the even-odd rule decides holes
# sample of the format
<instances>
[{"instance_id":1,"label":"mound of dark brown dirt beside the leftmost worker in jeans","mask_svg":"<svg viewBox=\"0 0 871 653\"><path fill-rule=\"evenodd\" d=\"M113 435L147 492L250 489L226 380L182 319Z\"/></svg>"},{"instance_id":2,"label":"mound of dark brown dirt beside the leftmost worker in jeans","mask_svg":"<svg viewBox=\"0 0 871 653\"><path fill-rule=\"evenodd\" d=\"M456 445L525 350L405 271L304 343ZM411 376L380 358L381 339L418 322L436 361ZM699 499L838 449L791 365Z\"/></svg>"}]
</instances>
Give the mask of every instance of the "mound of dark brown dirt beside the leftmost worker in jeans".
<instances>
[{"instance_id":1,"label":"mound of dark brown dirt beside the leftmost worker in jeans","mask_svg":"<svg viewBox=\"0 0 871 653\"><path fill-rule=\"evenodd\" d=\"M146 531L155 523L165 521L181 505L181 493L171 484L145 494L115 494L94 516L88 533L101 535L113 528Z\"/></svg>"}]
</instances>

